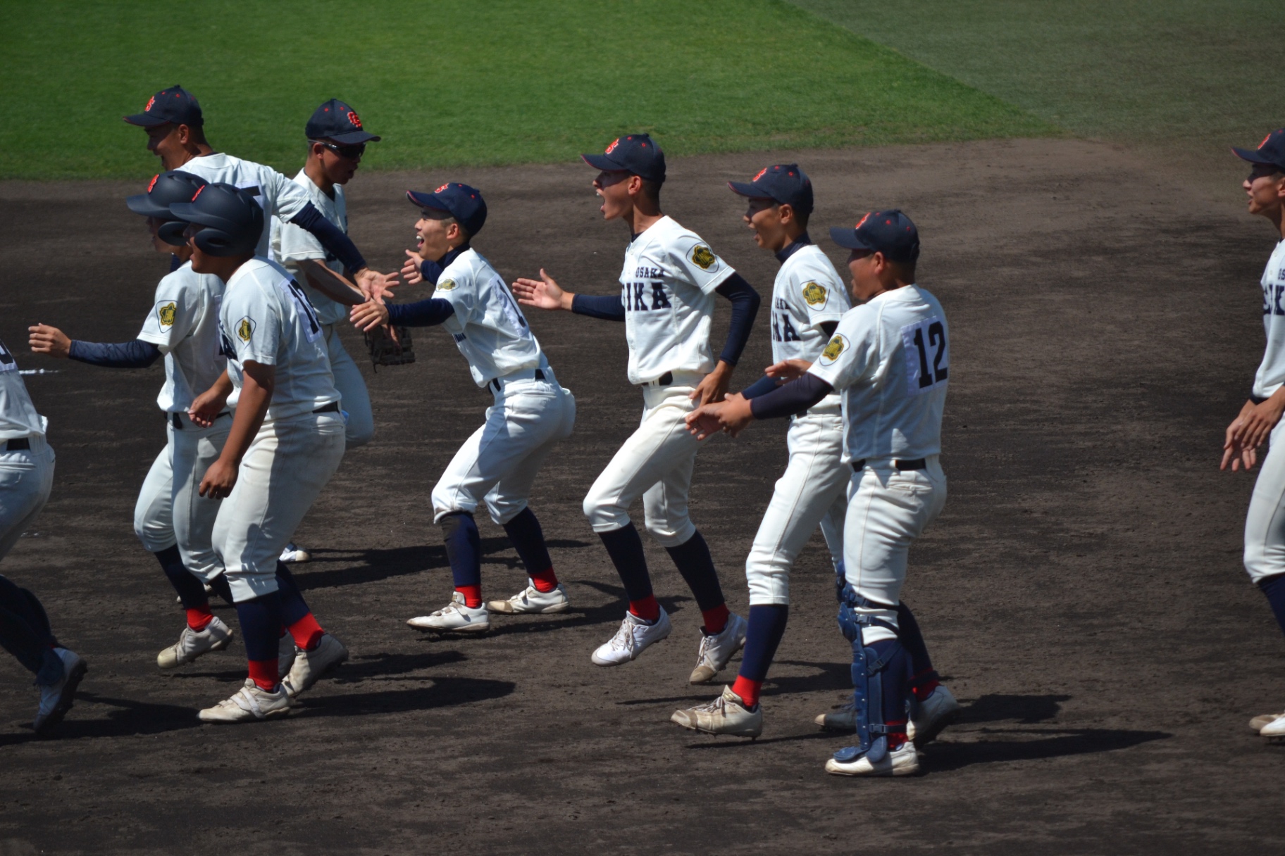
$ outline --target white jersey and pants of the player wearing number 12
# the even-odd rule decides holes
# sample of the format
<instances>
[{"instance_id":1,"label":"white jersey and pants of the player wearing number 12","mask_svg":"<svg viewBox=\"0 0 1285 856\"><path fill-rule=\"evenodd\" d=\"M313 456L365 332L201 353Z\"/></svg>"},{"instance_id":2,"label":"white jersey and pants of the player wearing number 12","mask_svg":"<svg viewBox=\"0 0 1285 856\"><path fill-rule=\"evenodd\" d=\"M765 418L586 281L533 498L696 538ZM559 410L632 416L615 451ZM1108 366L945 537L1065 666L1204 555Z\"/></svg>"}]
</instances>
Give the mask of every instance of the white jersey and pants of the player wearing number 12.
<instances>
[{"instance_id":1,"label":"white jersey and pants of the player wearing number 12","mask_svg":"<svg viewBox=\"0 0 1285 856\"><path fill-rule=\"evenodd\" d=\"M808 370L843 393L843 462L852 466L843 527L848 584L897 626L910 544L946 504L942 408L948 382L946 313L915 285L884 291L843 316ZM921 470L896 462L924 461ZM865 644L893 638L862 630Z\"/></svg>"}]
</instances>

